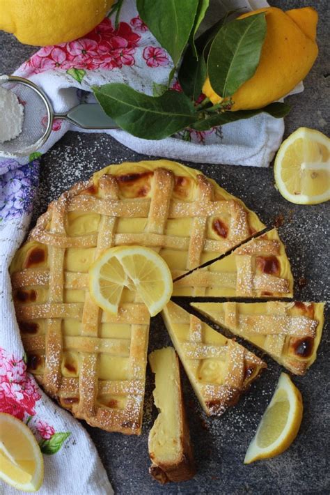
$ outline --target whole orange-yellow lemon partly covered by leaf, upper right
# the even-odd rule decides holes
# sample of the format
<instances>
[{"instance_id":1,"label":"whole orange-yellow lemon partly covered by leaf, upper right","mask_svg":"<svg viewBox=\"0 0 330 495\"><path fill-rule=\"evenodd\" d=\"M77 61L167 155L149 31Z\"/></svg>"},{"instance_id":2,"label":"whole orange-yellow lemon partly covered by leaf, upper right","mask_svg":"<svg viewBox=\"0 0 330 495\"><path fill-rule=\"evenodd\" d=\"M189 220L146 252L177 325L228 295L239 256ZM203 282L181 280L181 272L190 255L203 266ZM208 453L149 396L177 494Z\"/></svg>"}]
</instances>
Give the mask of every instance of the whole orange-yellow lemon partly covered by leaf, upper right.
<instances>
[{"instance_id":1,"label":"whole orange-yellow lemon partly covered by leaf, upper right","mask_svg":"<svg viewBox=\"0 0 330 495\"><path fill-rule=\"evenodd\" d=\"M262 45L256 73L233 94L231 110L258 109L282 98L311 70L317 57L317 12L311 7L283 10L275 7L260 8L238 19L260 12L266 13L267 35ZM203 93L213 104L221 96L212 89L207 77Z\"/></svg>"}]
</instances>

